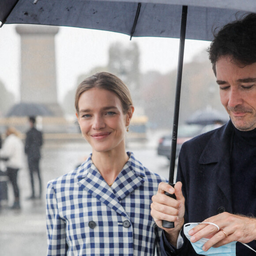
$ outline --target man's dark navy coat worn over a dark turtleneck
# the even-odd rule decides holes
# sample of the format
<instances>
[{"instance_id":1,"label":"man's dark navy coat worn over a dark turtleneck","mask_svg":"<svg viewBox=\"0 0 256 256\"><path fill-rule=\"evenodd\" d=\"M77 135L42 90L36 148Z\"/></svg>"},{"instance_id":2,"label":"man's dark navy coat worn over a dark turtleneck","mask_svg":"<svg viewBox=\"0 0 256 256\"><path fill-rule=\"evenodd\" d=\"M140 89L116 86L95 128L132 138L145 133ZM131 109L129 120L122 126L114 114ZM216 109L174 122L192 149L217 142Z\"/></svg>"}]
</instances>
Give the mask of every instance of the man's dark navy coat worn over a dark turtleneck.
<instances>
[{"instance_id":1,"label":"man's dark navy coat worn over a dark turtleneck","mask_svg":"<svg viewBox=\"0 0 256 256\"><path fill-rule=\"evenodd\" d=\"M229 121L221 128L197 136L182 145L178 160L177 181L183 184L185 223L202 222L224 211L233 213L230 168L233 134L233 124ZM256 195L252 197L256 200ZM241 214L256 216L256 210L248 205ZM198 255L190 241L184 237L183 232L181 234L184 244L179 250L169 245L164 233L162 234L162 255ZM255 241L253 243L256 245ZM243 250L248 250L248 253L253 253L244 245L241 246Z\"/></svg>"}]
</instances>

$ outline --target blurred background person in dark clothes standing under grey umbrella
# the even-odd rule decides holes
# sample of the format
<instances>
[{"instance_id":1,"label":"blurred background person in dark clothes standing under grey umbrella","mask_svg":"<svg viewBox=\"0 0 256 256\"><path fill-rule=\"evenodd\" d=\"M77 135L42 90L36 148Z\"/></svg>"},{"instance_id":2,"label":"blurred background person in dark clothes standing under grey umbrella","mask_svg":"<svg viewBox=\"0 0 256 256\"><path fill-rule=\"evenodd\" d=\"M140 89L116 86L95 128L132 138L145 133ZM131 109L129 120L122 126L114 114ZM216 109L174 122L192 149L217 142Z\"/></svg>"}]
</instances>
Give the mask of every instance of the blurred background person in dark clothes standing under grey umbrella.
<instances>
[{"instance_id":1,"label":"blurred background person in dark clothes standing under grey umbrella","mask_svg":"<svg viewBox=\"0 0 256 256\"><path fill-rule=\"evenodd\" d=\"M38 175L39 198L41 198L41 193L42 193L39 161L41 158L40 151L41 151L41 146L43 144L43 139L42 139L42 133L35 128L35 122L36 122L35 117L30 117L29 122L30 122L30 130L26 132L25 153L27 154L32 193L28 199L35 199L34 173Z\"/></svg>"}]
</instances>

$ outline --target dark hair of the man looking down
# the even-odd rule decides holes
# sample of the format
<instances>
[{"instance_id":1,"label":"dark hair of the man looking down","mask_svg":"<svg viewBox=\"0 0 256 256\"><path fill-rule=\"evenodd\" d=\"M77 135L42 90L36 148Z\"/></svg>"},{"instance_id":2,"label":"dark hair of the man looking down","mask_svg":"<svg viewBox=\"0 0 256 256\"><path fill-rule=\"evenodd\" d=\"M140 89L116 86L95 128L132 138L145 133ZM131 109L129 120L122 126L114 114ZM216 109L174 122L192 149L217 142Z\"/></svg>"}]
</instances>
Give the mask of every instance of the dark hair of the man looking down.
<instances>
[{"instance_id":1,"label":"dark hair of the man looking down","mask_svg":"<svg viewBox=\"0 0 256 256\"><path fill-rule=\"evenodd\" d=\"M207 51L215 75L220 56L229 55L242 65L256 62L256 14L243 15L228 23L217 34L214 32L214 38Z\"/></svg>"}]
</instances>

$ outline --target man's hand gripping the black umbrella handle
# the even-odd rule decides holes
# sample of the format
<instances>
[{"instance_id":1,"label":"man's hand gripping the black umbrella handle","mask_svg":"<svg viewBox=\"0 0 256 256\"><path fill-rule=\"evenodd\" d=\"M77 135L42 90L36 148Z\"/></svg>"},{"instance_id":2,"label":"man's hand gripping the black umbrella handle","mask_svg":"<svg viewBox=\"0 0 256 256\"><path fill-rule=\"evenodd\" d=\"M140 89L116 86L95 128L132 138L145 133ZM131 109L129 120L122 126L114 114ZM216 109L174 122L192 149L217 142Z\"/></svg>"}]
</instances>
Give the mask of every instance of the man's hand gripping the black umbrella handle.
<instances>
[{"instance_id":1,"label":"man's hand gripping the black umbrella handle","mask_svg":"<svg viewBox=\"0 0 256 256\"><path fill-rule=\"evenodd\" d=\"M174 186L161 182L158 185L158 192L152 196L151 216L155 223L166 231L167 237L172 245L176 246L178 235L184 224L185 199L181 192L182 184L177 182ZM176 200L166 196L165 192L170 194L175 193ZM174 222L174 228L168 229L162 226L162 220Z\"/></svg>"}]
</instances>

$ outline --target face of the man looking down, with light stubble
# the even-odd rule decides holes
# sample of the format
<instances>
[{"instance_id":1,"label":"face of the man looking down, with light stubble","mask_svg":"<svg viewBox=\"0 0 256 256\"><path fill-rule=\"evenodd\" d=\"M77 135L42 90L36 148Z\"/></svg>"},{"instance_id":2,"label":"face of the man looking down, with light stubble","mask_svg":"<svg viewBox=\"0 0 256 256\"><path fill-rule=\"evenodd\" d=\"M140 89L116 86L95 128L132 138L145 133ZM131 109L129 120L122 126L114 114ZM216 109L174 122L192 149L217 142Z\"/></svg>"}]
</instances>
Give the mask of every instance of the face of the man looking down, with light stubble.
<instances>
[{"instance_id":1,"label":"face of the man looking down, with light stubble","mask_svg":"<svg viewBox=\"0 0 256 256\"><path fill-rule=\"evenodd\" d=\"M256 63L242 66L230 56L216 62L216 78L222 105L241 131L256 128Z\"/></svg>"}]
</instances>

